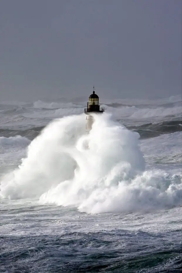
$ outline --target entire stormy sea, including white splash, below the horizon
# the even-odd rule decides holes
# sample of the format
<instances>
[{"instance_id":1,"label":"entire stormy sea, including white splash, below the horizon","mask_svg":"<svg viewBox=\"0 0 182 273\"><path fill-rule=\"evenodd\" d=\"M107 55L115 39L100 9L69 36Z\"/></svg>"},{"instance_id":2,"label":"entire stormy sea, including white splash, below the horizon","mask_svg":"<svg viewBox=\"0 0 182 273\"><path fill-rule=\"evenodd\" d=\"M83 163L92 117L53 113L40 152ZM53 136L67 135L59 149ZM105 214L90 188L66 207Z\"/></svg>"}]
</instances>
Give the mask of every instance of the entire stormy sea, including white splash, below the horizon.
<instances>
[{"instance_id":1,"label":"entire stormy sea, including white splash, below the horizon","mask_svg":"<svg viewBox=\"0 0 182 273\"><path fill-rule=\"evenodd\" d=\"M0 103L0 272L181 272L181 97Z\"/></svg>"}]
</instances>

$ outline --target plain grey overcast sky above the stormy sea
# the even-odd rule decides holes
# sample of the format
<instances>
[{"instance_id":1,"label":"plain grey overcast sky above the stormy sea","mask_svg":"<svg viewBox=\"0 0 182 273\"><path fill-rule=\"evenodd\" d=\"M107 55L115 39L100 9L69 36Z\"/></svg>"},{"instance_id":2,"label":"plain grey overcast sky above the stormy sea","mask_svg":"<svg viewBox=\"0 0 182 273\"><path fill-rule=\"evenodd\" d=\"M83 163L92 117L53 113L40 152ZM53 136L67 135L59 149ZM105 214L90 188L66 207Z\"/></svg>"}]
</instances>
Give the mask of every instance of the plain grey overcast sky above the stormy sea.
<instances>
[{"instance_id":1,"label":"plain grey overcast sky above the stormy sea","mask_svg":"<svg viewBox=\"0 0 182 273\"><path fill-rule=\"evenodd\" d=\"M1 0L0 101L181 93L181 0Z\"/></svg>"}]
</instances>

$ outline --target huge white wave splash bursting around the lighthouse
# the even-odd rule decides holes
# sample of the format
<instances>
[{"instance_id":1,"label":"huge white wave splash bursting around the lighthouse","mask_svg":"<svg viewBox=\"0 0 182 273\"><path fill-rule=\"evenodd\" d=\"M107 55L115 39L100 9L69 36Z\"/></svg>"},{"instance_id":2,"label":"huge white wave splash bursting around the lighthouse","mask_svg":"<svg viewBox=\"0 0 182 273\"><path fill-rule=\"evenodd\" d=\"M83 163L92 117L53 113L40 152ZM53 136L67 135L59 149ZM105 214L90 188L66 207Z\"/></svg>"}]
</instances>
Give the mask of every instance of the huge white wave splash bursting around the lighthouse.
<instances>
[{"instance_id":1,"label":"huge white wave splash bursting around the lighthouse","mask_svg":"<svg viewBox=\"0 0 182 273\"><path fill-rule=\"evenodd\" d=\"M1 180L3 198L38 197L40 203L76 206L87 213L180 205L180 176L145 171L139 134L109 114L57 119L28 146L21 165Z\"/></svg>"}]
</instances>

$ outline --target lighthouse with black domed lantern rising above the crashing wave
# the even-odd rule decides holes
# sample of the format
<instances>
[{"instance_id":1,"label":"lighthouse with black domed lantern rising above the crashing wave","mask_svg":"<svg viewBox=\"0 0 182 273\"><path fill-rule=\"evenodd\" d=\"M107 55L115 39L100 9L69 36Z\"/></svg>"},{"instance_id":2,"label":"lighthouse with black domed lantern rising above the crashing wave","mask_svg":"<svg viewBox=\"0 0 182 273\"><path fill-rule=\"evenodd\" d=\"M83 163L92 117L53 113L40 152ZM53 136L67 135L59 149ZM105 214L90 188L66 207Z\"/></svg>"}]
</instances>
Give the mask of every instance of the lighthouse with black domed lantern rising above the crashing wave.
<instances>
[{"instance_id":1,"label":"lighthouse with black domed lantern rising above the crashing wave","mask_svg":"<svg viewBox=\"0 0 182 273\"><path fill-rule=\"evenodd\" d=\"M86 131L90 132L93 124L93 116L92 114L102 114L105 111L104 107L100 107L99 105L99 97L95 94L95 87L93 86L93 93L89 97L89 101L87 102L87 108L85 108L86 114Z\"/></svg>"}]
</instances>

